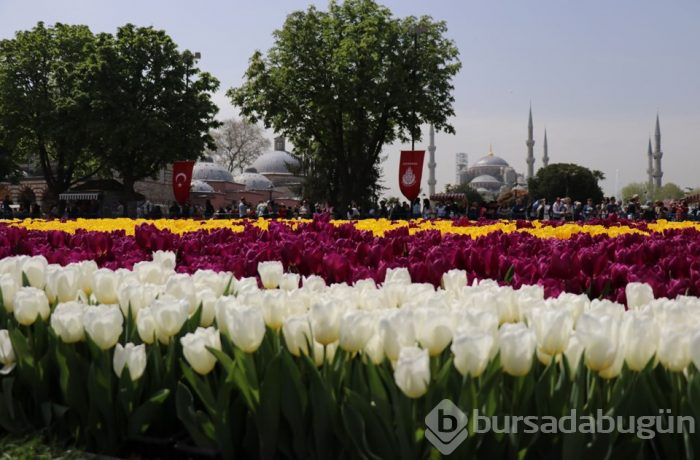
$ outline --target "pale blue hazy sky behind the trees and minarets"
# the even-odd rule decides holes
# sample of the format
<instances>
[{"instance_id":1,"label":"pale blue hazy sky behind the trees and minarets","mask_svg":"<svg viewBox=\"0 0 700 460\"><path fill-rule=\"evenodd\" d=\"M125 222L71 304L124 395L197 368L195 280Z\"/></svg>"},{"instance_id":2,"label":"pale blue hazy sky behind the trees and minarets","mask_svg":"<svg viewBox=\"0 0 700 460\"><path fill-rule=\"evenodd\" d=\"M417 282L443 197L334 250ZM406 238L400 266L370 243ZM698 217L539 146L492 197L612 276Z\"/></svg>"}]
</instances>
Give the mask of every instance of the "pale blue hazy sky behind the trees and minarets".
<instances>
[{"instance_id":1,"label":"pale blue hazy sky behind the trees and minarets","mask_svg":"<svg viewBox=\"0 0 700 460\"><path fill-rule=\"evenodd\" d=\"M469 164L496 155L525 173L527 116L535 130L535 170L545 128L550 163L602 171L606 195L646 180L647 144L659 114L663 181L700 186L700 2L697 0L385 0L395 16L445 21L460 51L454 78L456 134L436 134L437 191L455 183L455 153ZM225 96L239 86L255 50L309 0L0 0L0 39L38 21L114 32L126 23L165 30L199 67L221 81L218 118L237 117ZM427 149L424 140L416 149ZM270 140L274 134L268 132ZM387 196L399 196L398 158L387 145ZM427 191L427 155L423 190Z\"/></svg>"}]
</instances>

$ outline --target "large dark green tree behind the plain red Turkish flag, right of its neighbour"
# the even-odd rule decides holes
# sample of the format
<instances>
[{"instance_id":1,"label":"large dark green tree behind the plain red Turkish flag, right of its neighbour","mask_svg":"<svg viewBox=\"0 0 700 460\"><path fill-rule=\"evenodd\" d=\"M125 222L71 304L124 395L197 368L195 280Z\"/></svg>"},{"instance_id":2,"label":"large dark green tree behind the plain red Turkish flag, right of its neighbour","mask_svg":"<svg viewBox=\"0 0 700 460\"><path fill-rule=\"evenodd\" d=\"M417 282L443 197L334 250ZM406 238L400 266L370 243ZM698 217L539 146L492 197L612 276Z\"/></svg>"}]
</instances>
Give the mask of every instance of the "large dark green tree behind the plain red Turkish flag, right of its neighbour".
<instances>
[{"instance_id":1,"label":"large dark green tree behind the plain red Turkish flag, right of its neighbour","mask_svg":"<svg viewBox=\"0 0 700 460\"><path fill-rule=\"evenodd\" d=\"M127 24L116 35L97 37L90 76L101 148L131 213L136 181L214 147L209 130L219 123L211 93L219 82L195 59L151 27Z\"/></svg>"}]
</instances>

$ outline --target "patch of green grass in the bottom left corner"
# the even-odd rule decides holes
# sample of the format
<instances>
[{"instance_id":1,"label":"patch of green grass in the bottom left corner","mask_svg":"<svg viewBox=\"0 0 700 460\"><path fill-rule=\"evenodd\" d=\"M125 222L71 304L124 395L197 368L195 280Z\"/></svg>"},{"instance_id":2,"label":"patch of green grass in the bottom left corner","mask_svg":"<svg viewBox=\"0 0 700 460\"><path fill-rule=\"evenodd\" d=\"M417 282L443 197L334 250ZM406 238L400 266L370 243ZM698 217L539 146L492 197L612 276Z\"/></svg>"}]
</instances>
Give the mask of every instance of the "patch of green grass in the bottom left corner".
<instances>
[{"instance_id":1,"label":"patch of green grass in the bottom left corner","mask_svg":"<svg viewBox=\"0 0 700 460\"><path fill-rule=\"evenodd\" d=\"M0 460L84 459L91 457L75 448L60 446L41 434L23 437L0 435Z\"/></svg>"}]
</instances>

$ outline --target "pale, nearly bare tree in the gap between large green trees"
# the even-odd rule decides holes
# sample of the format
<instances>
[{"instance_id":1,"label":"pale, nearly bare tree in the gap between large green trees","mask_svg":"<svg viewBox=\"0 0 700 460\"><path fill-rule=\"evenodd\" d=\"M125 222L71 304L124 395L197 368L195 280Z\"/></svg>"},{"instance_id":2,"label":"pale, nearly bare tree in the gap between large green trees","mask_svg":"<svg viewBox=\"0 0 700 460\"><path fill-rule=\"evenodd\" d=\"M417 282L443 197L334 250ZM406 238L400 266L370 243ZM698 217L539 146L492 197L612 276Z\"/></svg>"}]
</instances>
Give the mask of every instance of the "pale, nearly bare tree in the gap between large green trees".
<instances>
[{"instance_id":1,"label":"pale, nearly bare tree in the gap between large green trees","mask_svg":"<svg viewBox=\"0 0 700 460\"><path fill-rule=\"evenodd\" d=\"M256 124L245 120L229 119L212 131L216 149L211 155L217 163L225 165L229 171L243 171L265 150L270 148L270 140L265 131Z\"/></svg>"}]
</instances>

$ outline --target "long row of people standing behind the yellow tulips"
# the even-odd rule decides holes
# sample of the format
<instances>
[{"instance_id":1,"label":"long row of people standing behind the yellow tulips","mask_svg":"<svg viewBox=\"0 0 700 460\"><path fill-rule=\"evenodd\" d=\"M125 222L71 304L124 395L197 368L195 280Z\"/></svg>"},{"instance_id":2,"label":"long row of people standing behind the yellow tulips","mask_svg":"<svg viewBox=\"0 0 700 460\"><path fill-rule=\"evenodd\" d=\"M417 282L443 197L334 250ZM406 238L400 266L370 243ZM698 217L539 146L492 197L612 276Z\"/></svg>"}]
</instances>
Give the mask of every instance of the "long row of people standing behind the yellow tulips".
<instances>
[{"instance_id":1,"label":"long row of people standing behind the yellow tulips","mask_svg":"<svg viewBox=\"0 0 700 460\"><path fill-rule=\"evenodd\" d=\"M121 206L121 205L120 205ZM101 217L95 203L88 201L67 203L63 207L63 213L53 206L47 213L42 213L37 203L12 202L9 196L2 201L2 214L4 219L12 218L74 218L74 217ZM115 211L116 216L123 215L123 209ZM327 203L311 203L307 200L300 201L296 206L288 206L274 200L261 201L252 204L242 198L229 206L216 209L209 200L204 205L185 203L179 205L173 202L166 209L165 206L150 202L140 203L136 208L136 216L150 219L168 218L311 218L314 214L328 213L336 219L365 219L386 218L392 220L401 219L449 219L466 217L470 220L478 219L539 219L562 221L586 221L590 219L605 219L610 216L627 218L632 220L657 220L666 219L672 221L700 220L700 207L697 204L690 205L685 199L670 201L646 201L642 203L638 195L634 195L626 202L616 200L613 197L604 198L600 203L594 203L592 199L586 202L574 201L569 197L557 197L549 203L547 199L540 198L528 201L523 198L514 203L471 202L466 201L436 201L429 199L416 199L413 203L399 200L380 200L374 206L363 209L352 202L346 208L333 208Z\"/></svg>"}]
</instances>

